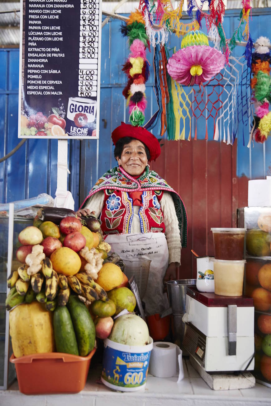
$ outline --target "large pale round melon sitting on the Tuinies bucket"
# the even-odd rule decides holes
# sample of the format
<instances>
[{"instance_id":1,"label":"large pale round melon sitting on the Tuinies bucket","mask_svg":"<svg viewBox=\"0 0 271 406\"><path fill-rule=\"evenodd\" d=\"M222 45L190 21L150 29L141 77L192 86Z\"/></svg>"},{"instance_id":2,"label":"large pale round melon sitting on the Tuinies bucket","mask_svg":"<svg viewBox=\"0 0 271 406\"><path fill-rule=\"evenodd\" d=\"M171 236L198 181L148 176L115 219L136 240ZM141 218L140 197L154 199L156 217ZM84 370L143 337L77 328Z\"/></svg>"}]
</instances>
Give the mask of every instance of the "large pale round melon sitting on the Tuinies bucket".
<instances>
[{"instance_id":1,"label":"large pale round melon sitting on the Tuinies bucket","mask_svg":"<svg viewBox=\"0 0 271 406\"><path fill-rule=\"evenodd\" d=\"M149 329L141 317L128 313L117 317L108 338L127 346L145 346L149 343Z\"/></svg>"}]
</instances>

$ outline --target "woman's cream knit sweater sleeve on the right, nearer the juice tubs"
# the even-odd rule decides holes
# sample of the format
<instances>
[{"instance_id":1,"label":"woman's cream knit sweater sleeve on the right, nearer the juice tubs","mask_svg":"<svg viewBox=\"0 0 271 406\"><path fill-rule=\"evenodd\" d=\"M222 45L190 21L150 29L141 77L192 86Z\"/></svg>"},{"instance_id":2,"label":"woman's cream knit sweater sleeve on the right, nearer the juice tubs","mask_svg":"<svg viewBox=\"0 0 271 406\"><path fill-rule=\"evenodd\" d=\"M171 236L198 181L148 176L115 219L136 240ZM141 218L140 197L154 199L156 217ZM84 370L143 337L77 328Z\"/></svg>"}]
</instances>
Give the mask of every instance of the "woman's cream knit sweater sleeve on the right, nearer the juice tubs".
<instances>
[{"instance_id":1,"label":"woman's cream knit sweater sleeve on the right, nearer the juice tubs","mask_svg":"<svg viewBox=\"0 0 271 406\"><path fill-rule=\"evenodd\" d=\"M165 236L169 248L169 263L178 262L180 265L182 244L179 222L176 216L173 199L169 192L163 193L160 205L164 216Z\"/></svg>"}]
</instances>

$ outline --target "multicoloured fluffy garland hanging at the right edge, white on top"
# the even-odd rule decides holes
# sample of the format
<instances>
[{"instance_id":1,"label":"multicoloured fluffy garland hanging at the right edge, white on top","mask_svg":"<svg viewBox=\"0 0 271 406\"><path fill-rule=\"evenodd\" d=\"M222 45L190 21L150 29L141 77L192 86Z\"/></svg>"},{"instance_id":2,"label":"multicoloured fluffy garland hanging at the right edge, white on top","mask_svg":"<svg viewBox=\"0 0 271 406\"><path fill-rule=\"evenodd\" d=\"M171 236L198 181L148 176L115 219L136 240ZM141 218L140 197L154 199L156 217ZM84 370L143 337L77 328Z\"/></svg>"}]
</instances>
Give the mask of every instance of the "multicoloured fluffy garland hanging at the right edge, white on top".
<instances>
[{"instance_id":1,"label":"multicoloured fluffy garland hanging at the right edge, white on top","mask_svg":"<svg viewBox=\"0 0 271 406\"><path fill-rule=\"evenodd\" d=\"M251 59L252 103L254 108L254 125L251 130L251 139L257 143L264 143L271 132L271 76L270 76L270 41L267 37L260 37L254 44L255 52ZM248 145L248 146L249 146Z\"/></svg>"}]
</instances>

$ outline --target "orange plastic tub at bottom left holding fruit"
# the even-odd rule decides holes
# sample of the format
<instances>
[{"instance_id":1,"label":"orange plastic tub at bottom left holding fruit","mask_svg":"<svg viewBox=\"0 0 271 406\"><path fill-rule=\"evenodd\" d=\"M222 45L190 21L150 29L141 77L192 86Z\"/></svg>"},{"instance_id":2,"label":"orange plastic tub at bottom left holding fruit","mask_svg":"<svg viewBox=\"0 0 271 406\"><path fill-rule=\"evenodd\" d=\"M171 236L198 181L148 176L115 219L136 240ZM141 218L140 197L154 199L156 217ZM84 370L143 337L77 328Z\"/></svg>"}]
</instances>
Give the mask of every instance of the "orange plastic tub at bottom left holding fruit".
<instances>
[{"instance_id":1,"label":"orange plastic tub at bottom left holding fruit","mask_svg":"<svg viewBox=\"0 0 271 406\"><path fill-rule=\"evenodd\" d=\"M84 389L89 365L96 348L88 356L48 352L15 358L20 392L26 395L48 393L77 393Z\"/></svg>"}]
</instances>

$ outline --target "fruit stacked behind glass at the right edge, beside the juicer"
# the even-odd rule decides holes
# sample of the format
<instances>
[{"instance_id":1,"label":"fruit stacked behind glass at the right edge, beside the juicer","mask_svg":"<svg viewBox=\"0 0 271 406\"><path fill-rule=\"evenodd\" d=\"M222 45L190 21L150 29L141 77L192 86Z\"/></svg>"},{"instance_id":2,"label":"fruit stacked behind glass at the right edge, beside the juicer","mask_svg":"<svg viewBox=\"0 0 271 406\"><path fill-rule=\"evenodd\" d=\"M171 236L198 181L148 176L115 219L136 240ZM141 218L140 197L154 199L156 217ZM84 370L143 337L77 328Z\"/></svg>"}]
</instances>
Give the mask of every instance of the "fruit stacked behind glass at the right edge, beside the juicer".
<instances>
[{"instance_id":1,"label":"fruit stacked behind glass at the right edge, beside the juicer","mask_svg":"<svg viewBox=\"0 0 271 406\"><path fill-rule=\"evenodd\" d=\"M255 368L271 382L271 213L253 210L247 219L245 295L255 307Z\"/></svg>"}]
</instances>

